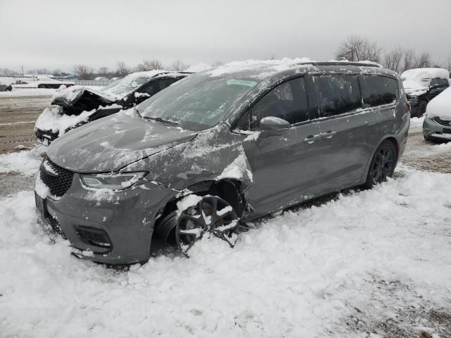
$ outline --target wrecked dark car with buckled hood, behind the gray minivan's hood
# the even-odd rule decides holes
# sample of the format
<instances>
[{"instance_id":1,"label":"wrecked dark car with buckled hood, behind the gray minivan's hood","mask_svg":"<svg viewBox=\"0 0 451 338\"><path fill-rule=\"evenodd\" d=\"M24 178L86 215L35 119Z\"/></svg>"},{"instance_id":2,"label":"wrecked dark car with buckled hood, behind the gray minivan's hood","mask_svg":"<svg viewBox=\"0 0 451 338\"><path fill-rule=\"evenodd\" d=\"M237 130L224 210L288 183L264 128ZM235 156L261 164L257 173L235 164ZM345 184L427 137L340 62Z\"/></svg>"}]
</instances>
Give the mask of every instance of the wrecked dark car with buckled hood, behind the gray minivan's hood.
<instances>
[{"instance_id":1,"label":"wrecked dark car with buckled hood, behind the gray minivan's hood","mask_svg":"<svg viewBox=\"0 0 451 338\"><path fill-rule=\"evenodd\" d=\"M44 109L37 118L37 139L48 145L71 129L140 104L189 74L152 70L132 73L99 90L82 86L62 89L52 97L51 104L56 107Z\"/></svg>"}]
</instances>

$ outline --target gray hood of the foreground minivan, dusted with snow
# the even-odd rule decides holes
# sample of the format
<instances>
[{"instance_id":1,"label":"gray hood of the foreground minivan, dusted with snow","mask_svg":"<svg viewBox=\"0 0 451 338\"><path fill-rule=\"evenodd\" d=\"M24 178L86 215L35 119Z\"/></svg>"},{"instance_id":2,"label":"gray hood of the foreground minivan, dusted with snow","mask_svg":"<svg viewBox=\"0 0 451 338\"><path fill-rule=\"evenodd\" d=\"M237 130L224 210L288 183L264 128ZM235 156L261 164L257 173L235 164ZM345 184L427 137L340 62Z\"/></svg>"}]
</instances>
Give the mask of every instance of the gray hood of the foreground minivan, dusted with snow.
<instances>
[{"instance_id":1,"label":"gray hood of the foreground minivan, dusted with snow","mask_svg":"<svg viewBox=\"0 0 451 338\"><path fill-rule=\"evenodd\" d=\"M47 156L77 173L107 173L190 141L196 132L132 117L111 115L71 130L56 139Z\"/></svg>"}]
</instances>

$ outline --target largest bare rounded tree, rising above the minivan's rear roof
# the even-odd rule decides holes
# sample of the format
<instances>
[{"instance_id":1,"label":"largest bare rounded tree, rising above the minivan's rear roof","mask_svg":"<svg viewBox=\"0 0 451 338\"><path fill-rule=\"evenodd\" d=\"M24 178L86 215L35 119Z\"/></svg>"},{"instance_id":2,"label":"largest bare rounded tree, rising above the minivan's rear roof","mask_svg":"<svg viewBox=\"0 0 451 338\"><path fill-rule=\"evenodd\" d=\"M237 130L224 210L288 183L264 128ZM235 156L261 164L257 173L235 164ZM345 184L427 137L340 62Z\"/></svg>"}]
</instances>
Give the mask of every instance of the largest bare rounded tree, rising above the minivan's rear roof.
<instances>
[{"instance_id":1,"label":"largest bare rounded tree, rising above the minivan's rear roof","mask_svg":"<svg viewBox=\"0 0 451 338\"><path fill-rule=\"evenodd\" d=\"M335 57L338 60L379 62L381 49L377 42L371 42L358 35L350 35L342 42Z\"/></svg>"}]
</instances>

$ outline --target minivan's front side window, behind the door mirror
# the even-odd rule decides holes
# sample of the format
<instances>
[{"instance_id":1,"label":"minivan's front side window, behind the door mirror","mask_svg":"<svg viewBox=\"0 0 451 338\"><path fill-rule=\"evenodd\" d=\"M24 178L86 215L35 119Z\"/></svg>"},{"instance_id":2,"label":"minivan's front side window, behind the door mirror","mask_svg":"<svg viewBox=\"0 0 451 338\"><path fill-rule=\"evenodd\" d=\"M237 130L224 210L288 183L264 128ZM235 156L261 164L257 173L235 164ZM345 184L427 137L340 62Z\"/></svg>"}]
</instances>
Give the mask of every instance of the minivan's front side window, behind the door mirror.
<instances>
[{"instance_id":1,"label":"minivan's front side window, behind the door mirror","mask_svg":"<svg viewBox=\"0 0 451 338\"><path fill-rule=\"evenodd\" d=\"M268 116L283 118L292 125L309 120L304 77L283 82L271 89L250 109L249 113L251 130L259 130L260 120ZM237 128L247 130L245 129L247 119L249 119L248 113L238 121Z\"/></svg>"}]
</instances>

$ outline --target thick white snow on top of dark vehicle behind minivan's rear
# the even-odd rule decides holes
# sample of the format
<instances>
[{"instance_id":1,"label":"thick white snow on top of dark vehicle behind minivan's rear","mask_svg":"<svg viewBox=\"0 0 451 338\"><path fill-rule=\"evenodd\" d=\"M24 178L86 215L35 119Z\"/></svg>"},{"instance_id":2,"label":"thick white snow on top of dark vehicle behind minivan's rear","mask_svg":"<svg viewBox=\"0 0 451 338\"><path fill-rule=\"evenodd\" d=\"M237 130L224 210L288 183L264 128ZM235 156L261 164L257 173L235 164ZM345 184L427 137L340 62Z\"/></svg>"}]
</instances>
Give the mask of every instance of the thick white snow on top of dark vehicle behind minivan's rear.
<instances>
[{"instance_id":1,"label":"thick white snow on top of dark vehicle behind minivan's rear","mask_svg":"<svg viewBox=\"0 0 451 338\"><path fill-rule=\"evenodd\" d=\"M409 95L421 95L428 91L433 78L449 79L450 72L443 68L414 68L401 74L404 91Z\"/></svg>"}]
</instances>

